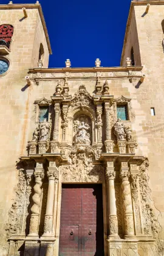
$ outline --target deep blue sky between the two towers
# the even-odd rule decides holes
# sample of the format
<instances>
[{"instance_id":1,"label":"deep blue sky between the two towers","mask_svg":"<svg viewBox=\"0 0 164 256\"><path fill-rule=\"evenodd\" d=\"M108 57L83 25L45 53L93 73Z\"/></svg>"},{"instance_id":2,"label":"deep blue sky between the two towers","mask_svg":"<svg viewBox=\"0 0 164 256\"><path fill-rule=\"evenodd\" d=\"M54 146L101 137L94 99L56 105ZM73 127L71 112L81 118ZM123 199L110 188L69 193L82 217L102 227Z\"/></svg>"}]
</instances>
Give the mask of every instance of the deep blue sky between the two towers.
<instances>
[{"instance_id":1,"label":"deep blue sky between the two towers","mask_svg":"<svg viewBox=\"0 0 164 256\"><path fill-rule=\"evenodd\" d=\"M1 4L8 4L1 0ZM13 3L35 3L13 0ZM40 0L53 55L49 67L120 66L131 0Z\"/></svg>"}]
</instances>

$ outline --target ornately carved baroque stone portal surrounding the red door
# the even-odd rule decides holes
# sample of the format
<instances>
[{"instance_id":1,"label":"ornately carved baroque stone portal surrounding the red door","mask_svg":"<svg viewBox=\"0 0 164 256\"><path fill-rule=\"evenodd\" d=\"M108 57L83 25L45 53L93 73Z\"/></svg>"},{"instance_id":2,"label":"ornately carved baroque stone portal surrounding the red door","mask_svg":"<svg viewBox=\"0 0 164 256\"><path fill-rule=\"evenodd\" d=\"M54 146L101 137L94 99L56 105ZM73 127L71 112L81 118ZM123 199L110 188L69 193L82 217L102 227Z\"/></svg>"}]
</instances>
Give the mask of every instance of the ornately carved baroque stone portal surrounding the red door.
<instances>
[{"instance_id":1,"label":"ornately carved baroque stone portal surrounding the red door","mask_svg":"<svg viewBox=\"0 0 164 256\"><path fill-rule=\"evenodd\" d=\"M99 78L98 83L101 89ZM81 85L71 98L68 80L63 90L58 82L51 102L54 113L49 122L44 119L38 124L28 143L28 156L20 158L18 190L6 226L8 255L15 255L14 236L25 244L25 255L34 253L31 242L38 253L45 249L43 241L53 255L60 186L71 182L103 183L109 255L124 255L127 250L126 255L137 255L144 247L147 251L152 247L152 254L144 255L158 255L160 225L148 186L149 162L135 155L131 124L117 119L108 82L105 87L104 94L98 90L91 96Z\"/></svg>"}]
</instances>

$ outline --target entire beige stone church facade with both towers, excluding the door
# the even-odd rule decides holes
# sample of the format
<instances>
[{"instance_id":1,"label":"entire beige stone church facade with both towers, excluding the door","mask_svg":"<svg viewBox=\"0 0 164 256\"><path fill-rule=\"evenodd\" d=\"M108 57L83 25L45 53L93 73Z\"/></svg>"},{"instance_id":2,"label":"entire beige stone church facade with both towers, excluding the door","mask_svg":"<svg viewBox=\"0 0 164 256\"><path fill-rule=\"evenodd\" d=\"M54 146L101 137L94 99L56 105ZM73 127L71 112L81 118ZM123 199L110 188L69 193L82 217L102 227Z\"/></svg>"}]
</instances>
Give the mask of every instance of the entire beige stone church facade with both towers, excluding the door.
<instances>
[{"instance_id":1,"label":"entire beige stone church facade with both towers, excluding the door","mask_svg":"<svg viewBox=\"0 0 164 256\"><path fill-rule=\"evenodd\" d=\"M0 5L14 28L0 55L10 62L0 75L2 256L58 255L62 183L103 184L105 255L163 255L164 2L149 2L131 3L117 68L47 68L41 6Z\"/></svg>"}]
</instances>

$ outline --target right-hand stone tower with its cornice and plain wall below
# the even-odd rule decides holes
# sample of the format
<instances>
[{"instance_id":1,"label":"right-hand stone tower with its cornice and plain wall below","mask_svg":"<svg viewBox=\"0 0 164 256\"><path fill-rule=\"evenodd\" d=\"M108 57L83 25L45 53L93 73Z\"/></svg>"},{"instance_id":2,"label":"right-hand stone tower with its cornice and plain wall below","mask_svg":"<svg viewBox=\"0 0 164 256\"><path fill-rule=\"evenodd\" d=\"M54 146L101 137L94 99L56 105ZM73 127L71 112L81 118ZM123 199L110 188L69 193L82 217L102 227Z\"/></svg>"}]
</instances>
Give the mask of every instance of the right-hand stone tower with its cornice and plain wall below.
<instances>
[{"instance_id":1,"label":"right-hand stone tower with its cornice and plain wall below","mask_svg":"<svg viewBox=\"0 0 164 256\"><path fill-rule=\"evenodd\" d=\"M126 65L126 58L133 58L133 66L143 66L145 79L143 83L133 84L134 92L145 121L142 141L148 146L148 158L154 168L158 166L158 175L153 174L150 165L149 175L153 180L151 190L155 207L164 216L161 205L163 188L160 187L163 175L162 156L164 151L163 139L163 77L164 77L164 1L132 1L126 26L125 40L121 55L121 66ZM155 184L155 185L154 185ZM157 189L159 187L159 190ZM163 225L163 218L159 218ZM163 232L163 231L162 231ZM162 234L164 235L164 233Z\"/></svg>"}]
</instances>

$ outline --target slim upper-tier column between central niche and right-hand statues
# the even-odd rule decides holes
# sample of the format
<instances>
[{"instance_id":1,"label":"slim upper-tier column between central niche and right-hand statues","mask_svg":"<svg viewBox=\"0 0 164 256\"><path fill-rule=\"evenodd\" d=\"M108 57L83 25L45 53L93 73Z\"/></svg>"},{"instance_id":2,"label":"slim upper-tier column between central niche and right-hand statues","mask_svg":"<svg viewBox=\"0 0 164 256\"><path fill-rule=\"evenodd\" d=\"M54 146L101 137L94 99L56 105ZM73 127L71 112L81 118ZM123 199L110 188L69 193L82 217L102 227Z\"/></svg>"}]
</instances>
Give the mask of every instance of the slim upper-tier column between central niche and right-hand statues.
<instances>
[{"instance_id":1,"label":"slim upper-tier column between central niche and right-hand statues","mask_svg":"<svg viewBox=\"0 0 164 256\"><path fill-rule=\"evenodd\" d=\"M106 141L105 148L107 153L113 152L113 141L111 140L111 104L110 102L104 103L105 110L105 123L106 123Z\"/></svg>"}]
</instances>

